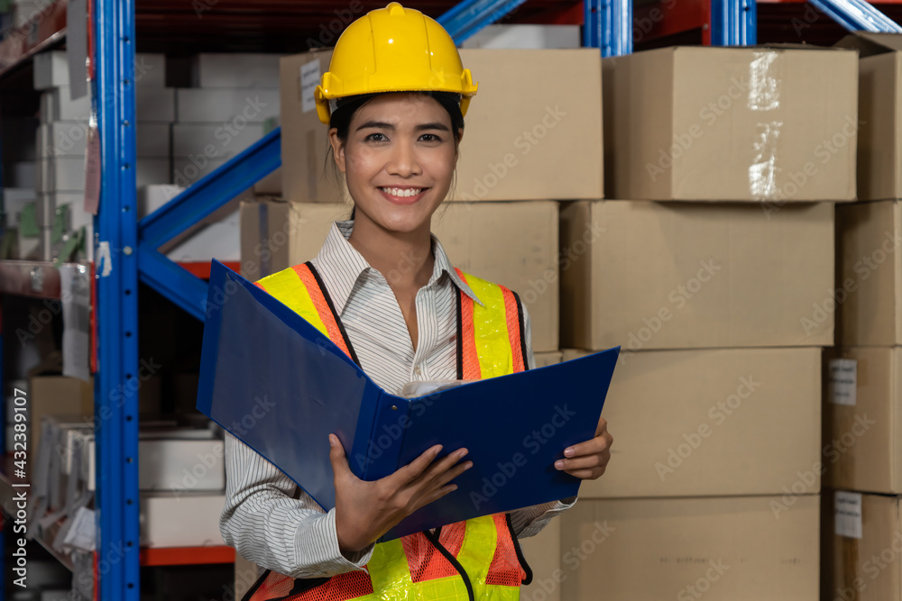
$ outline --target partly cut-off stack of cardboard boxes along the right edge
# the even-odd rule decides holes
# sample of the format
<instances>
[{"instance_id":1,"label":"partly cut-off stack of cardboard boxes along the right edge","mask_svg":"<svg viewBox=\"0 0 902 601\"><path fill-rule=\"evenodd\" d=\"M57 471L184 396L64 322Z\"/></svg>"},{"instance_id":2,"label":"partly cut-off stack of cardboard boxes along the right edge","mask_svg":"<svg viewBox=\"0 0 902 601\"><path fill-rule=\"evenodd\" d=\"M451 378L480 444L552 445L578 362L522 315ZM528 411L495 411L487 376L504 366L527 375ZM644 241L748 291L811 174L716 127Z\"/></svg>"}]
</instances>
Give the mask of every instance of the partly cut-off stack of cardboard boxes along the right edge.
<instances>
[{"instance_id":1,"label":"partly cut-off stack of cardboard boxes along the right edge","mask_svg":"<svg viewBox=\"0 0 902 601\"><path fill-rule=\"evenodd\" d=\"M902 599L902 35L859 33L859 198L837 210L838 347L824 357L824 580Z\"/></svg>"}]
</instances>

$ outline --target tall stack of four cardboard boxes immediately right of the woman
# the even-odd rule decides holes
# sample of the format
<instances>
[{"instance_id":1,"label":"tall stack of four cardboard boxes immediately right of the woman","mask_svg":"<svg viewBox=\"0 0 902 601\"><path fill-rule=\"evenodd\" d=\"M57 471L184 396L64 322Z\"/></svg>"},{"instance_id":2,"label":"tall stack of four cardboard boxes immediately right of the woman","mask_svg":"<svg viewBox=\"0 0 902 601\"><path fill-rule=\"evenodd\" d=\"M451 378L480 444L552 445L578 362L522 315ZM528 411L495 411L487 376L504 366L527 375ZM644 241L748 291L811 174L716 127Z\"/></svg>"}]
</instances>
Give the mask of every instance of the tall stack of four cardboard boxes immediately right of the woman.
<instances>
[{"instance_id":1,"label":"tall stack of four cardboard boxes immediately right of the woman","mask_svg":"<svg viewBox=\"0 0 902 601\"><path fill-rule=\"evenodd\" d=\"M622 353L611 463L561 518L563 596L816 599L857 57L671 48L603 69L613 200L562 205L561 341L565 360Z\"/></svg>"}]
</instances>

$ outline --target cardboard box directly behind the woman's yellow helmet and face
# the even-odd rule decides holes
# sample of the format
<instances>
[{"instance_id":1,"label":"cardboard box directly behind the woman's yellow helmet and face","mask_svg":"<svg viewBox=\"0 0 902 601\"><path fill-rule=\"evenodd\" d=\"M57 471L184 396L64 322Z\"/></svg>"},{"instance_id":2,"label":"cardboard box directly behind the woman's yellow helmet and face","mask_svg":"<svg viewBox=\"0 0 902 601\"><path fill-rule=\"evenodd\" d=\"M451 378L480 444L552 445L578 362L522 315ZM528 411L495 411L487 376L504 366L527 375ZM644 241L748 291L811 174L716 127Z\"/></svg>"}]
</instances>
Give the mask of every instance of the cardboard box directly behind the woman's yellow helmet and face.
<instances>
[{"instance_id":1,"label":"cardboard box directly behind the woman's yellow helmet and face","mask_svg":"<svg viewBox=\"0 0 902 601\"><path fill-rule=\"evenodd\" d=\"M465 116L453 199L601 198L598 52L464 49L460 55L479 89ZM345 196L324 175L327 127L313 102L330 56L321 50L281 59L282 158L294 167L284 186L292 202L338 202ZM562 83L548 86L548 77Z\"/></svg>"}]
</instances>

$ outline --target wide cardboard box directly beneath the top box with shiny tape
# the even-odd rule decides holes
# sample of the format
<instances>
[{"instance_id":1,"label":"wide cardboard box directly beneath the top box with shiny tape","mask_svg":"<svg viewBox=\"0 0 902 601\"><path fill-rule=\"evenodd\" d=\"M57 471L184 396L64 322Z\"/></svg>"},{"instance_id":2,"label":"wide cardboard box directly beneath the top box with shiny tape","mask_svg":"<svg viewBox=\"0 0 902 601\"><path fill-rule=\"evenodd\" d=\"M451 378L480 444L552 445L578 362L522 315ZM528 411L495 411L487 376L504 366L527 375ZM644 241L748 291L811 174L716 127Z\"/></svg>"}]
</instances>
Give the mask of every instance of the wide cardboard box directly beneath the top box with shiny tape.
<instances>
[{"instance_id":1,"label":"wide cardboard box directly beneath the top box with shiny tape","mask_svg":"<svg viewBox=\"0 0 902 601\"><path fill-rule=\"evenodd\" d=\"M580 201L560 219L561 346L833 344L833 204Z\"/></svg>"}]
</instances>

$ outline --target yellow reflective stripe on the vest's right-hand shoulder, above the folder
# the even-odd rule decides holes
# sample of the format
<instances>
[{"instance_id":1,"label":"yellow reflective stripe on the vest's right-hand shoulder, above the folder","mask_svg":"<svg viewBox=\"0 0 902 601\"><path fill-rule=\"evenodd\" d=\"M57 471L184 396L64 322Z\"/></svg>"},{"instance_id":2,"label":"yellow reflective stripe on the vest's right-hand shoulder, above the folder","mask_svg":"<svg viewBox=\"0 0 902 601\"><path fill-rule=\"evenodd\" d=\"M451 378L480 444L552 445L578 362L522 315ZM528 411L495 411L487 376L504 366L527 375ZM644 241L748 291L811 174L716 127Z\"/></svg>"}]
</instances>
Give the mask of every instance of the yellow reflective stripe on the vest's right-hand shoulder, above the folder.
<instances>
[{"instance_id":1,"label":"yellow reflective stripe on the vest's right-hand shoulder, above the folder","mask_svg":"<svg viewBox=\"0 0 902 601\"><path fill-rule=\"evenodd\" d=\"M511 339L508 337L507 314L501 287L470 274L466 274L466 283L484 305L473 304L476 354L479 355L483 379L513 373Z\"/></svg>"}]
</instances>

